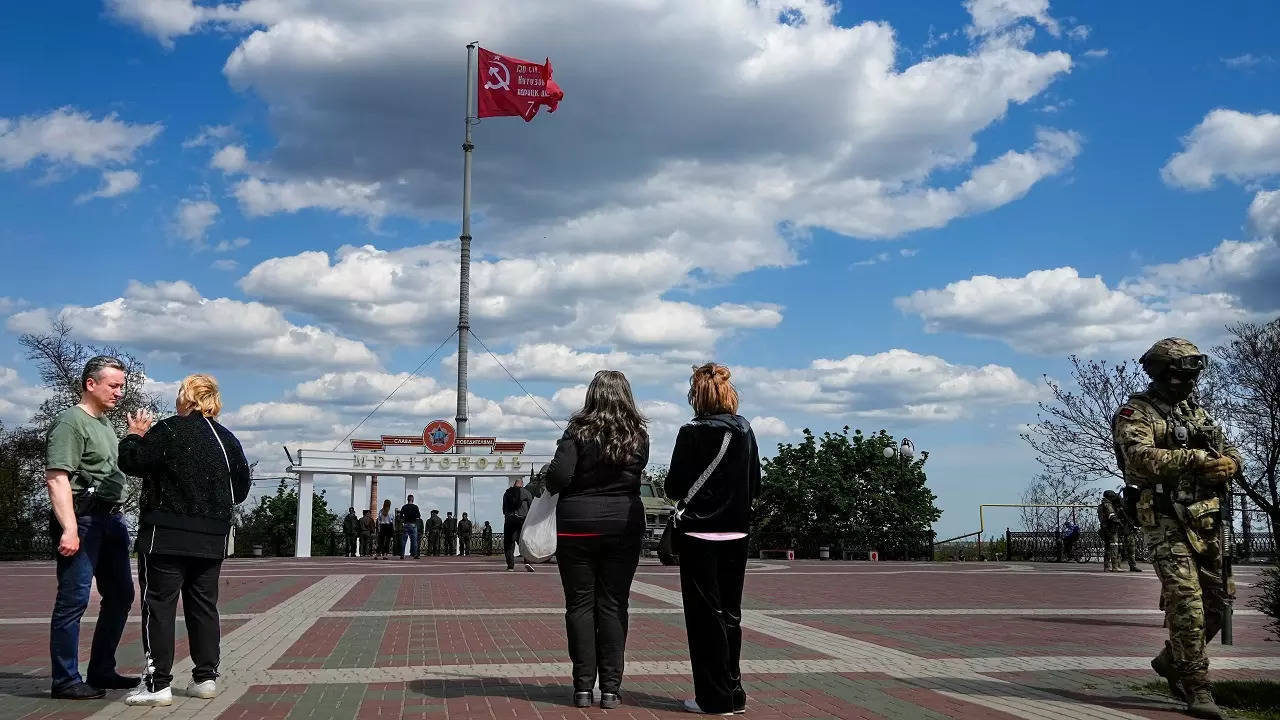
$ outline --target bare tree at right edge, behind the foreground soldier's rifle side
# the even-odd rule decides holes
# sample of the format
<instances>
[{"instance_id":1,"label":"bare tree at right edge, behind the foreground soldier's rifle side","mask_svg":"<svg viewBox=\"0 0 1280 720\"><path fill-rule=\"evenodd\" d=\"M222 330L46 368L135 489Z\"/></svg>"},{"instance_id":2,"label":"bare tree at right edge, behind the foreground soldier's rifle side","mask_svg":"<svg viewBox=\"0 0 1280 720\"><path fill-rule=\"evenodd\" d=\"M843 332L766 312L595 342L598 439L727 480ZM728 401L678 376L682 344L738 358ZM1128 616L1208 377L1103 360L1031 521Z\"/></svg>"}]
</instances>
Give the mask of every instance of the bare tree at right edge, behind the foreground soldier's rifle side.
<instances>
[{"instance_id":1,"label":"bare tree at right edge, behind the foreground soldier's rifle side","mask_svg":"<svg viewBox=\"0 0 1280 720\"><path fill-rule=\"evenodd\" d=\"M1280 319L1229 325L1202 387L1206 406L1244 455L1243 489L1280 524ZM1204 383L1202 383L1204 384Z\"/></svg>"}]
</instances>

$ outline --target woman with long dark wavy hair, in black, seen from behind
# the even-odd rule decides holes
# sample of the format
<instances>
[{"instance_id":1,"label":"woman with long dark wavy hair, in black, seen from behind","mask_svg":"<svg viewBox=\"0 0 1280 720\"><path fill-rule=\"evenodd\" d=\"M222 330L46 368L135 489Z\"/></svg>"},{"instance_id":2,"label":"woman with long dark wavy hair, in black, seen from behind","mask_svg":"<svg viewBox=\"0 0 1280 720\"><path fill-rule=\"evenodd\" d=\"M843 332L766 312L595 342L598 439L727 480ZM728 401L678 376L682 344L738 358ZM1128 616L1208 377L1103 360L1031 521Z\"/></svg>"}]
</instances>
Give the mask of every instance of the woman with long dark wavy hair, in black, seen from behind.
<instances>
[{"instance_id":1,"label":"woman with long dark wavy hair, in black, seen from behind","mask_svg":"<svg viewBox=\"0 0 1280 720\"><path fill-rule=\"evenodd\" d=\"M556 562L564 587L576 707L591 705L596 675L600 707L621 703L627 602L645 529L645 425L626 375L600 370L547 469L547 492L559 493Z\"/></svg>"}]
</instances>

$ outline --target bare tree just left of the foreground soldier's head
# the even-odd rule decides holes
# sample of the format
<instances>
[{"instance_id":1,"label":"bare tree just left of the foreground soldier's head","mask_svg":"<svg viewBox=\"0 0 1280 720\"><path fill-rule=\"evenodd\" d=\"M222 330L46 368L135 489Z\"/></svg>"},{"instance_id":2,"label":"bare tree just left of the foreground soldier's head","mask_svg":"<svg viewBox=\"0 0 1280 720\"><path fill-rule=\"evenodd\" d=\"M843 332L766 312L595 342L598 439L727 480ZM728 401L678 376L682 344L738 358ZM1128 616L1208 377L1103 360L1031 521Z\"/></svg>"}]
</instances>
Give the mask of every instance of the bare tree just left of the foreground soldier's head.
<instances>
[{"instance_id":1,"label":"bare tree just left of the foreground soldier's head","mask_svg":"<svg viewBox=\"0 0 1280 720\"><path fill-rule=\"evenodd\" d=\"M1085 483L1123 480L1111 439L1111 418L1130 395L1146 387L1147 375L1137 363L1108 365L1075 355L1068 359L1076 389L1044 375L1053 398L1039 404L1036 424L1021 438L1036 451L1036 460L1048 477Z\"/></svg>"}]
</instances>

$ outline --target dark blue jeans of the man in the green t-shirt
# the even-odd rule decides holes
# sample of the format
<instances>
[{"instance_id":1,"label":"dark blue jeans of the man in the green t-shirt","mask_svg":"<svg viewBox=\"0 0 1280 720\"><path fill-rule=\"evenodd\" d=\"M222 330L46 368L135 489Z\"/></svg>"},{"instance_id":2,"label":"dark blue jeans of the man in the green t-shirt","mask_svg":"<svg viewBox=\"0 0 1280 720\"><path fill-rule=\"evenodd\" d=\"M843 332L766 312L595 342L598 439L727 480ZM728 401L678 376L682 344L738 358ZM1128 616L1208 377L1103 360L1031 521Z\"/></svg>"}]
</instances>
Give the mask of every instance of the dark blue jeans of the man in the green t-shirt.
<instances>
[{"instance_id":1,"label":"dark blue jeans of the man in the green t-shirt","mask_svg":"<svg viewBox=\"0 0 1280 720\"><path fill-rule=\"evenodd\" d=\"M93 625L93 647L88 657L88 682L115 676L115 648L120 644L124 623L133 606L133 573L129 570L129 530L119 514L82 515L79 552L58 556L58 598L49 624L49 655L52 662L52 688L60 691L81 680L79 621L88 609L92 580L102 602ZM56 538L55 538L56 542Z\"/></svg>"}]
</instances>

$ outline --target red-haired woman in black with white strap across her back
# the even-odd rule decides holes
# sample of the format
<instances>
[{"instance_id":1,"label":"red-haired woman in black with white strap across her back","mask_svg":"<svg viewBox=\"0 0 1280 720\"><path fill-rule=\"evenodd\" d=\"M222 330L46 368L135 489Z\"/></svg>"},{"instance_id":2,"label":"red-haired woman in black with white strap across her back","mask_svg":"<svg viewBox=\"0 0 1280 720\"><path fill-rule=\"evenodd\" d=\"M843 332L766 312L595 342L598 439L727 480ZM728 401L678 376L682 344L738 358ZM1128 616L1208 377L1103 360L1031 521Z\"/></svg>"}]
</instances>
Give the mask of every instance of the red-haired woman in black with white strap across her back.
<instances>
[{"instance_id":1,"label":"red-haired woman in black with white strap across her back","mask_svg":"<svg viewBox=\"0 0 1280 720\"><path fill-rule=\"evenodd\" d=\"M677 524L680 592L694 670L694 698L685 710L732 715L746 710L739 656L742 652L742 582L751 501L760 492L760 451L746 418L737 414L737 391L723 365L708 363L689 378L694 419L680 428L667 473L667 497L694 493Z\"/></svg>"}]
</instances>

